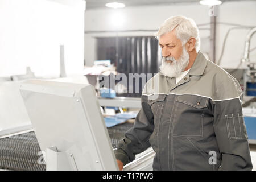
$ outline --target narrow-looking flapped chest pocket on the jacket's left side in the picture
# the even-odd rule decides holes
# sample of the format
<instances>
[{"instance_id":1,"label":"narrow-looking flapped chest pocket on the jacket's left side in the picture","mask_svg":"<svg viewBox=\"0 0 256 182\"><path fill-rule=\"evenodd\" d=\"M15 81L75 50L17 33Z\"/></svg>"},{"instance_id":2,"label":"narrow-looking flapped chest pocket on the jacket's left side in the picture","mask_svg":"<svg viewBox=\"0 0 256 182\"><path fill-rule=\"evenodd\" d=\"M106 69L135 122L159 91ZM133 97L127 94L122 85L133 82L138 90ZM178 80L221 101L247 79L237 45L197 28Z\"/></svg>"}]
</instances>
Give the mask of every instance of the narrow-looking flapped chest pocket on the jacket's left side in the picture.
<instances>
[{"instance_id":1,"label":"narrow-looking flapped chest pocket on the jacket's left side in the picture","mask_svg":"<svg viewBox=\"0 0 256 182\"><path fill-rule=\"evenodd\" d=\"M154 114L154 134L156 135L159 135L165 99L166 95L159 94L158 98L156 98L155 100L148 101Z\"/></svg>"}]
</instances>

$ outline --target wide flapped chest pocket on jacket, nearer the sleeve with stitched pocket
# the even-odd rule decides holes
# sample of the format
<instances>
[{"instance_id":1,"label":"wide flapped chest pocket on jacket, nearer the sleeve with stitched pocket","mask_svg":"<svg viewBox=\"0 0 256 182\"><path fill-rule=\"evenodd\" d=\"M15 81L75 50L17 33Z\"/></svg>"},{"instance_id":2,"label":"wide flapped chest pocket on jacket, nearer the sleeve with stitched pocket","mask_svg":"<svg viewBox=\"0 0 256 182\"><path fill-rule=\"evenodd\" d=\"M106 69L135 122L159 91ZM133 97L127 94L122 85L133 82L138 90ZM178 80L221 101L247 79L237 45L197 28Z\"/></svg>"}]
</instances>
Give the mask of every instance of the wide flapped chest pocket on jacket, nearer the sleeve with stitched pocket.
<instances>
[{"instance_id":1,"label":"wide flapped chest pocket on jacket, nearer the sleeve with stitched pocket","mask_svg":"<svg viewBox=\"0 0 256 182\"><path fill-rule=\"evenodd\" d=\"M203 119L209 98L196 95L177 96L172 135L203 137Z\"/></svg>"}]
</instances>

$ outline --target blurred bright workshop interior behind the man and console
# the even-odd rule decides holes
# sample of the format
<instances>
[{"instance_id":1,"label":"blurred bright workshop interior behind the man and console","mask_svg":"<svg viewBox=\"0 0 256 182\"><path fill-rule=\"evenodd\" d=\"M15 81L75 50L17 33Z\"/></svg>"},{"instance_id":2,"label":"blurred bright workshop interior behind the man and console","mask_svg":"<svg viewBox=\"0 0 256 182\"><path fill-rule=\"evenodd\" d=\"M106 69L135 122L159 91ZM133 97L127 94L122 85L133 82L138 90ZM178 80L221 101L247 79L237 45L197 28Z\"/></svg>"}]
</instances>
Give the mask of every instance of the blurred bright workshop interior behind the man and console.
<instances>
[{"instance_id":1,"label":"blurred bright workshop interior behind the man and console","mask_svg":"<svg viewBox=\"0 0 256 182\"><path fill-rule=\"evenodd\" d=\"M123 92L129 82L103 88L102 80L158 73L154 33L174 15L195 20L201 52L240 82L256 170L256 1L117 0L107 7L111 2L0 0L0 170L46 170L19 90L31 78L93 85L115 150L133 126L142 90Z\"/></svg>"}]
</instances>

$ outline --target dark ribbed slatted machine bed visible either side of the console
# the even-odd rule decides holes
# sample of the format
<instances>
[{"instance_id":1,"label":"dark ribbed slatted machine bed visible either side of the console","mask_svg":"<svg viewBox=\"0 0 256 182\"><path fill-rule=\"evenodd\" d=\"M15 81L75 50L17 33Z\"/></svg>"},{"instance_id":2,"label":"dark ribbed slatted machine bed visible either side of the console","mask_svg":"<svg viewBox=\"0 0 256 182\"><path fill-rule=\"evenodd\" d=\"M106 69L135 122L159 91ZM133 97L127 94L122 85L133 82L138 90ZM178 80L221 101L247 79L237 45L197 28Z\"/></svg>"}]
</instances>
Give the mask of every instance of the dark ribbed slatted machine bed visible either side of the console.
<instances>
[{"instance_id":1,"label":"dark ribbed slatted machine bed visible either side of the console","mask_svg":"<svg viewBox=\"0 0 256 182\"><path fill-rule=\"evenodd\" d=\"M113 150L117 148L133 123L122 123L108 128ZM44 171L45 164L39 164L41 154L34 131L0 139L0 169Z\"/></svg>"}]
</instances>

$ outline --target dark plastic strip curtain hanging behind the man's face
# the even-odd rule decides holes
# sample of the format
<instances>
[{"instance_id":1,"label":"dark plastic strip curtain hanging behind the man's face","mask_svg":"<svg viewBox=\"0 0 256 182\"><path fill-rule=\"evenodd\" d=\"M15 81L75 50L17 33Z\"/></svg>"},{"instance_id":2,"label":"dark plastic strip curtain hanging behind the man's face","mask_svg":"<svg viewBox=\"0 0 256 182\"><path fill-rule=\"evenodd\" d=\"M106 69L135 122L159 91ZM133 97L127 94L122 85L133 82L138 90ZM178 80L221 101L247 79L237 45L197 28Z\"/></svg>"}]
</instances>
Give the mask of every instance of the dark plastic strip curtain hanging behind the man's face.
<instances>
[{"instance_id":1,"label":"dark plastic strip curtain hanging behind the man's face","mask_svg":"<svg viewBox=\"0 0 256 182\"><path fill-rule=\"evenodd\" d=\"M97 60L111 60L117 72L127 76L128 87L131 86L128 84L129 73L151 73L154 76L159 72L160 59L159 43L154 36L97 38ZM118 96L141 97L143 87L140 86L139 93Z\"/></svg>"}]
</instances>

